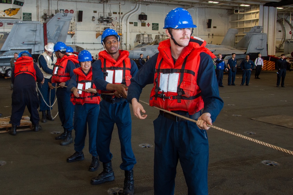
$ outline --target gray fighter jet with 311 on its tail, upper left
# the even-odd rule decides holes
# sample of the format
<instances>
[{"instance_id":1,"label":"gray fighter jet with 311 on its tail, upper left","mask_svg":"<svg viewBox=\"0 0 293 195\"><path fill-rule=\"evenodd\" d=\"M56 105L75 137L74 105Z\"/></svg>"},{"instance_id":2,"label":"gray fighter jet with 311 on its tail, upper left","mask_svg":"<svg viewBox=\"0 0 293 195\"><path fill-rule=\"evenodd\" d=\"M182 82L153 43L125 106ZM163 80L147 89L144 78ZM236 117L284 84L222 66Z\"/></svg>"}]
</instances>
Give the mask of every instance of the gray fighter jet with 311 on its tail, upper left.
<instances>
[{"instance_id":1,"label":"gray fighter jet with 311 on its tail, upper left","mask_svg":"<svg viewBox=\"0 0 293 195\"><path fill-rule=\"evenodd\" d=\"M10 59L15 52L26 50L37 60L44 52L45 43L65 42L71 18L72 13L56 13L44 23L1 20L2 23L13 23L13 28L10 33L0 36L0 72L11 76Z\"/></svg>"}]
</instances>

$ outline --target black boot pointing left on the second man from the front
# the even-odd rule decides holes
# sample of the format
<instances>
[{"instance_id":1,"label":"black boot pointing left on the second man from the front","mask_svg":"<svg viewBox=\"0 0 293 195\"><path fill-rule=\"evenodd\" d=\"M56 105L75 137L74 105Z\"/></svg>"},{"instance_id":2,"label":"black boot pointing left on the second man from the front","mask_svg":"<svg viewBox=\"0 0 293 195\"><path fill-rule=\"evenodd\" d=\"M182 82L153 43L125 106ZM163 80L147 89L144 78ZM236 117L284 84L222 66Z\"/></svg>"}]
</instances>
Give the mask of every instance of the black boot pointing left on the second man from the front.
<instances>
[{"instance_id":1,"label":"black boot pointing left on the second man from the front","mask_svg":"<svg viewBox=\"0 0 293 195\"><path fill-rule=\"evenodd\" d=\"M93 177L91 179L92 185L103 184L107 181L113 181L115 179L114 172L112 169L112 163L103 163L103 172L101 172L98 177Z\"/></svg>"}]
</instances>

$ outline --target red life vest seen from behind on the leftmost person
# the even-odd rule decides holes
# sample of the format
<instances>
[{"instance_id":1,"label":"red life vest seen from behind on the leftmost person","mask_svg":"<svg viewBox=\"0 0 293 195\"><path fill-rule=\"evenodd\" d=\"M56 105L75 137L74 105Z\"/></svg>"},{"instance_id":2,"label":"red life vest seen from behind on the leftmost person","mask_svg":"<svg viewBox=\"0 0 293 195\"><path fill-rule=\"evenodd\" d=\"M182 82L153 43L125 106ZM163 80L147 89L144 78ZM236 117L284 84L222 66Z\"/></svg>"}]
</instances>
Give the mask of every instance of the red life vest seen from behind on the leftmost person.
<instances>
[{"instance_id":1,"label":"red life vest seen from behind on the leftmost person","mask_svg":"<svg viewBox=\"0 0 293 195\"><path fill-rule=\"evenodd\" d=\"M20 57L14 62L14 76L16 77L18 74L26 73L30 74L36 78L36 70L34 69L34 62L33 58L29 56Z\"/></svg>"}]
</instances>

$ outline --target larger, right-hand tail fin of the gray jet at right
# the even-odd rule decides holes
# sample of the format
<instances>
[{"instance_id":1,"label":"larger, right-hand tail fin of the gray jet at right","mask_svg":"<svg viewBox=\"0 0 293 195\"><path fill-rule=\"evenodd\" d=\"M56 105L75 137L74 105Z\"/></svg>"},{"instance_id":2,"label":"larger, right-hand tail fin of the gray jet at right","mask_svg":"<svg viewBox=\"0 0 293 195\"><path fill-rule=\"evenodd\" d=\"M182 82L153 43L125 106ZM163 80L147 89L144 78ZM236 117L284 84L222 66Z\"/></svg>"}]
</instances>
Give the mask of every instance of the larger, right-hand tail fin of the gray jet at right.
<instances>
[{"instance_id":1,"label":"larger, right-hand tail fin of the gray jet at right","mask_svg":"<svg viewBox=\"0 0 293 195\"><path fill-rule=\"evenodd\" d=\"M260 53L262 56L268 55L267 33L261 33L263 26L254 26L235 45L235 48L247 48L246 53Z\"/></svg>"}]
</instances>

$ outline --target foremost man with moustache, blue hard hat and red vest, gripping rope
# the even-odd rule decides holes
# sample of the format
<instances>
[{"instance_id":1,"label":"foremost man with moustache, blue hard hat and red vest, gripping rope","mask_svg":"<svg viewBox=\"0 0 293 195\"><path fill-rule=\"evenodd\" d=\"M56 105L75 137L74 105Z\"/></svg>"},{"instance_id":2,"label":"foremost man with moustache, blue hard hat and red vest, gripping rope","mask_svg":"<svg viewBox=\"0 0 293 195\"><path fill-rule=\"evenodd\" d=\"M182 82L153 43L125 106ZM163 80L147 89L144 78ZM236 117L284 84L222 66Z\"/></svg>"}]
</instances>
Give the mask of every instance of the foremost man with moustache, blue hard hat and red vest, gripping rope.
<instances>
[{"instance_id":1,"label":"foremost man with moustache, blue hard hat and red vest, gripping rope","mask_svg":"<svg viewBox=\"0 0 293 195\"><path fill-rule=\"evenodd\" d=\"M165 18L166 34L171 39L159 43L159 53L131 79L127 99L134 116L147 113L138 102L148 84L153 84L149 104L197 120L190 122L160 111L154 120L154 195L173 195L178 161L188 187L185 194L207 195L209 146L206 130L212 125L223 101L219 96L212 54L206 42L191 36L190 13L183 8L171 10Z\"/></svg>"}]
</instances>

